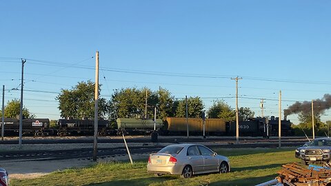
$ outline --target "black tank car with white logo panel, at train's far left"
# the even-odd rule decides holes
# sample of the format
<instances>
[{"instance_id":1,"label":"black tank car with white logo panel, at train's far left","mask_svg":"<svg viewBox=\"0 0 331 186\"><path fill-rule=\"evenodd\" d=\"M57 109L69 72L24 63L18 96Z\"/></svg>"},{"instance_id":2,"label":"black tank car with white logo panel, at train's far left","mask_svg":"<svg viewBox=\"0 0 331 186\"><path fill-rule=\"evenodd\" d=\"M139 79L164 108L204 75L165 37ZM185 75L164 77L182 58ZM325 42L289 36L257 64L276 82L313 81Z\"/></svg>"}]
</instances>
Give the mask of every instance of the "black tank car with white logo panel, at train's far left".
<instances>
[{"instance_id":1,"label":"black tank car with white logo panel, at train's far left","mask_svg":"<svg viewBox=\"0 0 331 186\"><path fill-rule=\"evenodd\" d=\"M5 118L4 127L6 136L19 134L19 119ZM2 121L0 122L2 127ZM48 118L27 118L22 120L22 134L34 136L48 136L53 134L53 130L49 129L50 120Z\"/></svg>"}]
</instances>

